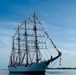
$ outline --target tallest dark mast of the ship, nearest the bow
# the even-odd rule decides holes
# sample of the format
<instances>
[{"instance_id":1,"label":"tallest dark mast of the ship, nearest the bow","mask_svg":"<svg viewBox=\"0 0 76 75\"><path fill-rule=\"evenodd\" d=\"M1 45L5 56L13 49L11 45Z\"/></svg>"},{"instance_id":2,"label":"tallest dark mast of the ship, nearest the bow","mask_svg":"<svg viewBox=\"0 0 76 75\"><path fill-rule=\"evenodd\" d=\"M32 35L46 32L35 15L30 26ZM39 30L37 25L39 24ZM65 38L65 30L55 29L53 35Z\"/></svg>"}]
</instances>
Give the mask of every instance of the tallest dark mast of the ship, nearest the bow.
<instances>
[{"instance_id":1,"label":"tallest dark mast of the ship, nearest the bow","mask_svg":"<svg viewBox=\"0 0 76 75\"><path fill-rule=\"evenodd\" d=\"M36 28L36 15L34 12L34 32L35 32L35 50L36 50L36 62L38 63L38 40L37 40L37 28Z\"/></svg>"}]
</instances>

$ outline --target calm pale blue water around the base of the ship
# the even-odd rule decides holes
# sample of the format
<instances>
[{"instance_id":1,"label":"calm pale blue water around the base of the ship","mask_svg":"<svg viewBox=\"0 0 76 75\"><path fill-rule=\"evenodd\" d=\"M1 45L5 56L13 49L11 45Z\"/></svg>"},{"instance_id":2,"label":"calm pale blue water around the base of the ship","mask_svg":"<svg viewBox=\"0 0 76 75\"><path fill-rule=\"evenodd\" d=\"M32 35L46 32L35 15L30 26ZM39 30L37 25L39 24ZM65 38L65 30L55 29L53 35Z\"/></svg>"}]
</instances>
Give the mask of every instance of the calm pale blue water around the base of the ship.
<instances>
[{"instance_id":1,"label":"calm pale blue water around the base of the ship","mask_svg":"<svg viewBox=\"0 0 76 75\"><path fill-rule=\"evenodd\" d=\"M0 75L38 75L38 74L9 74L8 70L0 70ZM76 70L46 70L39 75L76 75Z\"/></svg>"}]
</instances>

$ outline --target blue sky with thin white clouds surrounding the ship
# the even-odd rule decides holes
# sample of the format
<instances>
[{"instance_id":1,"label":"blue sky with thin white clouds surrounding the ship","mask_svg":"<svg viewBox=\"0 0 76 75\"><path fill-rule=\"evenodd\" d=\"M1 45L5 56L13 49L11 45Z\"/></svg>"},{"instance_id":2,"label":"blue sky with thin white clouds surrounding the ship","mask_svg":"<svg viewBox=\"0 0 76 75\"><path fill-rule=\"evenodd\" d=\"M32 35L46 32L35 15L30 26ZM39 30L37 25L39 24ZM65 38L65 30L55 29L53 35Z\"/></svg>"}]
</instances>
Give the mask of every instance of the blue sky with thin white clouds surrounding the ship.
<instances>
[{"instance_id":1,"label":"blue sky with thin white clouds surrounding the ship","mask_svg":"<svg viewBox=\"0 0 76 75\"><path fill-rule=\"evenodd\" d=\"M76 67L76 0L0 0L0 68L9 64L15 28L33 12L62 52L61 67Z\"/></svg>"}]
</instances>

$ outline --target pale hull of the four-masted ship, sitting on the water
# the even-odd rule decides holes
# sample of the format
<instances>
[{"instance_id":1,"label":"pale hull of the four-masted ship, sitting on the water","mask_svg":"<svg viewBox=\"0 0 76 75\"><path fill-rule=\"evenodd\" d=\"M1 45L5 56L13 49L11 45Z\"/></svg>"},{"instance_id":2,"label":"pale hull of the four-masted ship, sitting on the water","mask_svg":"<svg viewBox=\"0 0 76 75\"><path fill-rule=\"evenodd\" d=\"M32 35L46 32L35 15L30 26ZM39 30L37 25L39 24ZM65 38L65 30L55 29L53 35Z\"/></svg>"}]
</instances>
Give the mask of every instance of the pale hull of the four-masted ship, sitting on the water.
<instances>
[{"instance_id":1,"label":"pale hull of the four-masted ship, sitting on the water","mask_svg":"<svg viewBox=\"0 0 76 75\"><path fill-rule=\"evenodd\" d=\"M10 73L45 73L47 65L42 63L34 63L31 65L8 66Z\"/></svg>"}]
</instances>

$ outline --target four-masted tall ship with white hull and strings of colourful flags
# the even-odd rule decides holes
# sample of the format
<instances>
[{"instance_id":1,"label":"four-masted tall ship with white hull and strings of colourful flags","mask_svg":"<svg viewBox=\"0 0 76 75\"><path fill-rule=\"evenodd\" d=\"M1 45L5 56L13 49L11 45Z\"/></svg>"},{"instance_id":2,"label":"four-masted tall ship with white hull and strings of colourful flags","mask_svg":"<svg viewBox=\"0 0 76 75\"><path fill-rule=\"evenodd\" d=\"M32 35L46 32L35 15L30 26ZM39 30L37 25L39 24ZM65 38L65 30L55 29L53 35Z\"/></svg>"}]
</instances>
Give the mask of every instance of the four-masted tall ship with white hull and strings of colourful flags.
<instances>
[{"instance_id":1,"label":"four-masted tall ship with white hull and strings of colourful flags","mask_svg":"<svg viewBox=\"0 0 76 75\"><path fill-rule=\"evenodd\" d=\"M56 49L57 55L45 59L49 51L47 39ZM16 28L8 70L10 73L45 73L47 66L61 55L38 16L33 13Z\"/></svg>"}]
</instances>

